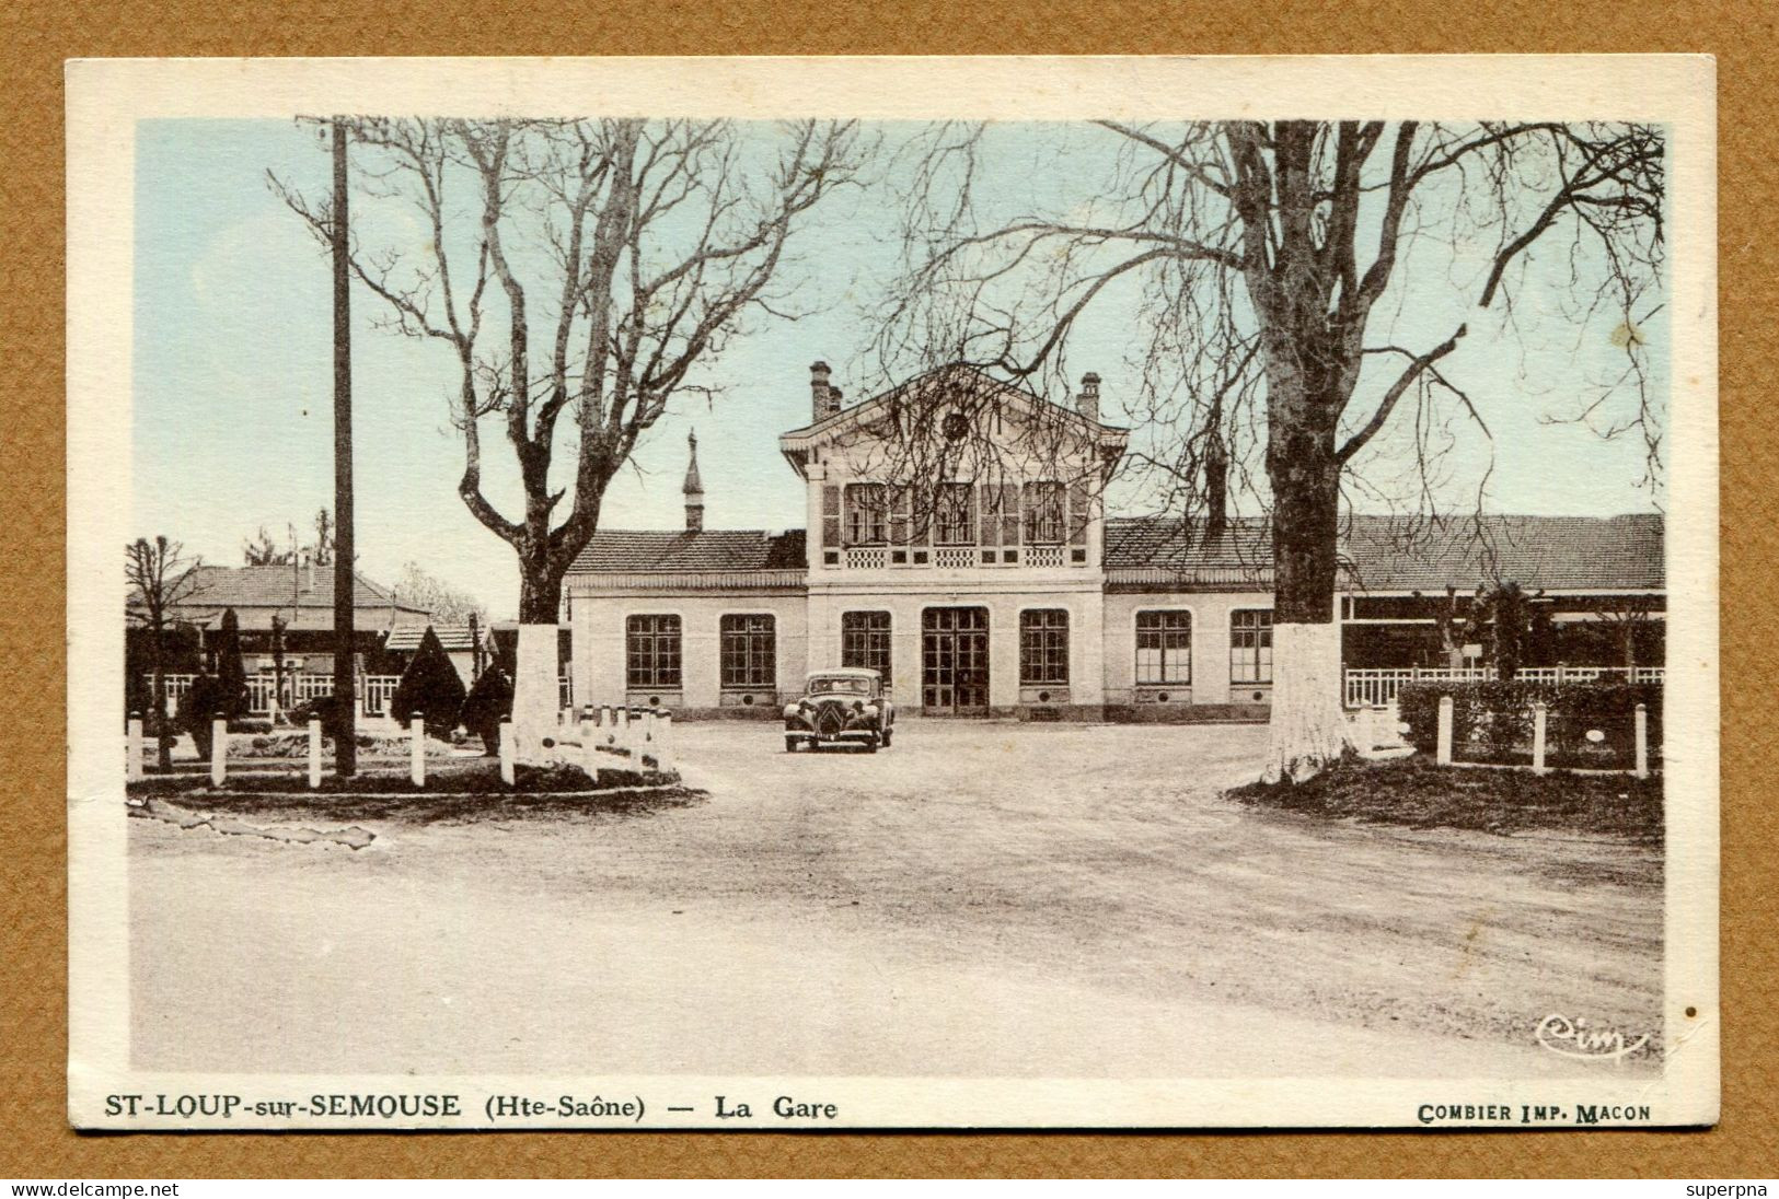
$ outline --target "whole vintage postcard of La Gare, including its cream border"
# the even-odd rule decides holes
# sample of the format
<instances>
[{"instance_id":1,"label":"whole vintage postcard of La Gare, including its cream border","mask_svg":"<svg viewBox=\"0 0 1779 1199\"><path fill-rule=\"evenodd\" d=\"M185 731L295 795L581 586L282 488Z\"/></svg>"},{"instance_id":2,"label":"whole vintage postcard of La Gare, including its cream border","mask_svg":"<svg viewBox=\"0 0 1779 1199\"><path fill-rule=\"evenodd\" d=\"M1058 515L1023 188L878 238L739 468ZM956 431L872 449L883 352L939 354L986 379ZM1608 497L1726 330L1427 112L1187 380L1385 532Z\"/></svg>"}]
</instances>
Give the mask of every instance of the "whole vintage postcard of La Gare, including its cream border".
<instances>
[{"instance_id":1,"label":"whole vintage postcard of La Gare, including its cream border","mask_svg":"<svg viewBox=\"0 0 1779 1199\"><path fill-rule=\"evenodd\" d=\"M1717 1119L1701 57L68 68L69 1117Z\"/></svg>"}]
</instances>

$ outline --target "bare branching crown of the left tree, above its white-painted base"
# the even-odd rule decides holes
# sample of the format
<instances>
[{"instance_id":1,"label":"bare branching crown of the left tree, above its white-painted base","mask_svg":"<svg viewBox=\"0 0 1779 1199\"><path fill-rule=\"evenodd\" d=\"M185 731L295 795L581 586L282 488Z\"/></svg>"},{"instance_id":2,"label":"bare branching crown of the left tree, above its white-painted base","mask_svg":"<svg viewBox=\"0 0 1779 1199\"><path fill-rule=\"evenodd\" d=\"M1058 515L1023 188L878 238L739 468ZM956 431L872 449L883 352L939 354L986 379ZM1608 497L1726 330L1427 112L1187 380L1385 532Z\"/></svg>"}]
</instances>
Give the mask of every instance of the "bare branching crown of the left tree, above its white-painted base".
<instances>
[{"instance_id":1,"label":"bare branching crown of the left tree, above its white-painted base","mask_svg":"<svg viewBox=\"0 0 1779 1199\"><path fill-rule=\"evenodd\" d=\"M457 495L518 555L519 619L551 624L637 439L676 397L712 397L696 368L738 322L781 315L790 237L854 180L857 130L802 121L763 149L724 121L349 125L370 208L398 206L422 228L422 247L366 249L361 221L352 272L393 329L450 352ZM272 187L326 240L329 205ZM484 493L487 422L518 464L512 516ZM559 443L573 445L560 479Z\"/></svg>"}]
</instances>

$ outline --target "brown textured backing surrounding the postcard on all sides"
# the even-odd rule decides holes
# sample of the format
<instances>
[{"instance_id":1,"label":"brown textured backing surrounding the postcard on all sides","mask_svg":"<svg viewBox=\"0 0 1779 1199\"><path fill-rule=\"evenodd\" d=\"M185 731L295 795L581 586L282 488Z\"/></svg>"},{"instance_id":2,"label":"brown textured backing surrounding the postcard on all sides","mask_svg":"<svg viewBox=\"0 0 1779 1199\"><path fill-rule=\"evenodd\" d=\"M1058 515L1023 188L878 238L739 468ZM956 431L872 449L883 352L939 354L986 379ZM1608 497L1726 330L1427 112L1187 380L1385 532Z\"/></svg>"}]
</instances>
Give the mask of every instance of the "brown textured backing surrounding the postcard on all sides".
<instances>
[{"instance_id":1,"label":"brown textured backing surrounding the postcard on all sides","mask_svg":"<svg viewBox=\"0 0 1779 1199\"><path fill-rule=\"evenodd\" d=\"M1743 4L1356 0L957 5L861 0L382 5L14 0L0 12L0 1176L1213 1174L1774 1176L1779 1089L1768 881L1779 681L1768 589L1779 475L1767 404L1779 278L1779 14ZM62 60L464 53L1357 53L1719 55L1722 297L1724 1115L1704 1133L1238 1135L135 1135L64 1119Z\"/></svg>"}]
</instances>

